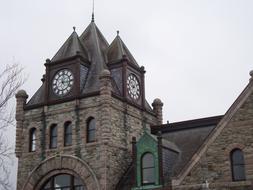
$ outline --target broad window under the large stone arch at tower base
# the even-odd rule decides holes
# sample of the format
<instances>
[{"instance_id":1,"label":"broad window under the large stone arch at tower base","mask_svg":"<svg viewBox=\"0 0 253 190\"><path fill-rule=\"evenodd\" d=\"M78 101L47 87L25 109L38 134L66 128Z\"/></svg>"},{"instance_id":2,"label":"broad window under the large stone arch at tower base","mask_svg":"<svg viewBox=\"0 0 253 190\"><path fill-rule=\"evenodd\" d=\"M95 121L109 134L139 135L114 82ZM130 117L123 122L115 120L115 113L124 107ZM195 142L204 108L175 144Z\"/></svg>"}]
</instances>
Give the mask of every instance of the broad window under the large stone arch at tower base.
<instances>
[{"instance_id":1,"label":"broad window under the large stone arch at tower base","mask_svg":"<svg viewBox=\"0 0 253 190\"><path fill-rule=\"evenodd\" d=\"M41 190L86 190L80 178L68 174L60 174L51 177L41 188Z\"/></svg>"}]
</instances>

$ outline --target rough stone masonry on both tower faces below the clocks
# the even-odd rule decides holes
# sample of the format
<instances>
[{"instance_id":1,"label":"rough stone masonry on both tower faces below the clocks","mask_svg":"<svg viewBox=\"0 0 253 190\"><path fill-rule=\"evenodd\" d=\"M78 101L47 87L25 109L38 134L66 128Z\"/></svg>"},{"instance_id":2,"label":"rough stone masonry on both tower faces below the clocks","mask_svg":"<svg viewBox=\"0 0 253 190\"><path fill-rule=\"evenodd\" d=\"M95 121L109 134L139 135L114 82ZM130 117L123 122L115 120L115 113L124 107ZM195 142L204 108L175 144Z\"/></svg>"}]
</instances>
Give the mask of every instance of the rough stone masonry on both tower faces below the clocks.
<instances>
[{"instance_id":1,"label":"rough stone masonry on both tower faces below the clocks","mask_svg":"<svg viewBox=\"0 0 253 190\"><path fill-rule=\"evenodd\" d=\"M44 108L36 108L25 111L23 122L22 138L21 138L21 157L18 165L18 185L17 189L21 189L25 183L29 173L42 161L41 138L43 127L42 112L44 109L46 118L46 158L55 155L76 155L77 146L81 149L81 158L86 161L94 170L98 179L102 178L102 174L107 167L107 182L113 187L118 183L120 177L126 171L131 162L131 138L139 137L144 126L143 118L145 117L148 124L154 124L156 118L150 114L143 113L139 109L126 105L117 99L112 99L111 105L111 132L110 143L103 144L101 142L101 110L98 97L82 99L79 104L80 129L76 130L76 102L52 105ZM87 143L86 125L90 117L96 119L97 141ZM66 121L72 122L73 143L72 146L64 147L63 142L63 126ZM58 144L57 149L49 149L49 128L51 124L58 126ZM147 125L148 125L147 124ZM146 125L146 124L145 124ZM29 130L36 128L36 152L29 152ZM81 144L77 145L77 135L81 137ZM105 146L106 145L106 146ZM103 151L107 152L107 157L103 157ZM78 156L78 155L76 155ZM106 160L105 160L106 158ZM106 167L105 167L106 165ZM104 182L101 182L104 183Z\"/></svg>"}]
</instances>

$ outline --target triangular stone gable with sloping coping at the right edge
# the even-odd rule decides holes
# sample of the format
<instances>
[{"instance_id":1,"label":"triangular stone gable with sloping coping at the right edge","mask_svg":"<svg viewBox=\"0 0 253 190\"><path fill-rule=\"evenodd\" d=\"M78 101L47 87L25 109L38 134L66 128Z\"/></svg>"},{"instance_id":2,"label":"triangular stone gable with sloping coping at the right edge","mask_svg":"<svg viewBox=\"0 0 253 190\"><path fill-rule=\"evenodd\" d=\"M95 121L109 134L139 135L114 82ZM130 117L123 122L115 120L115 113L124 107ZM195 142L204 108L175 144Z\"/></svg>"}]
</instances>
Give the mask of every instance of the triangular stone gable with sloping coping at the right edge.
<instances>
[{"instance_id":1,"label":"triangular stone gable with sloping coping at the right edge","mask_svg":"<svg viewBox=\"0 0 253 190\"><path fill-rule=\"evenodd\" d=\"M234 148L243 150L246 160L252 157L253 147L253 84L252 81L227 111L184 170L173 180L174 185L199 183L204 179L231 182L229 153ZM247 175L253 175L253 164L248 164Z\"/></svg>"}]
</instances>

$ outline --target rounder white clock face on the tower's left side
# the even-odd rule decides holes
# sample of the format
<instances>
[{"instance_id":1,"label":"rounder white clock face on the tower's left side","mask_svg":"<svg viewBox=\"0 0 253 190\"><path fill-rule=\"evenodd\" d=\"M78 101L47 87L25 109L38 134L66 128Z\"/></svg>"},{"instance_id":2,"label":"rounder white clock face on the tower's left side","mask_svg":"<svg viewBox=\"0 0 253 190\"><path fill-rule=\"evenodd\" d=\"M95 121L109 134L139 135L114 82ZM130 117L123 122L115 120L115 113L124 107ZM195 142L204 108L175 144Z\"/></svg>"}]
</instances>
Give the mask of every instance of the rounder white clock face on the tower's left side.
<instances>
[{"instance_id":1,"label":"rounder white clock face on the tower's left side","mask_svg":"<svg viewBox=\"0 0 253 190\"><path fill-rule=\"evenodd\" d=\"M63 69L56 73L53 78L53 92L58 96L66 95L74 84L74 77L70 70Z\"/></svg>"}]
</instances>

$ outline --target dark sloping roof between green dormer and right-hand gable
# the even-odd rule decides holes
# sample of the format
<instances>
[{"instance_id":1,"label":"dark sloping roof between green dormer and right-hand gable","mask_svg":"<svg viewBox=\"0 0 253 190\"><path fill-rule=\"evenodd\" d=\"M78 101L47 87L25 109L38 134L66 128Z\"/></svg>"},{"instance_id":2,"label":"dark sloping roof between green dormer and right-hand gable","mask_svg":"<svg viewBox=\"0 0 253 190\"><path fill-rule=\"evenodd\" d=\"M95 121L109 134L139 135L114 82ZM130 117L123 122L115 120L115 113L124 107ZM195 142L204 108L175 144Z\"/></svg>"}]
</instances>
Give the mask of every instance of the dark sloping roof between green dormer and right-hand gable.
<instances>
[{"instance_id":1,"label":"dark sloping roof between green dormer and right-hand gable","mask_svg":"<svg viewBox=\"0 0 253 190\"><path fill-rule=\"evenodd\" d=\"M153 133L156 134L161 131L164 139L175 143L181 150L180 157L173 167L173 176L176 176L191 160L194 153L218 125L222 117L215 116L152 127Z\"/></svg>"}]
</instances>

